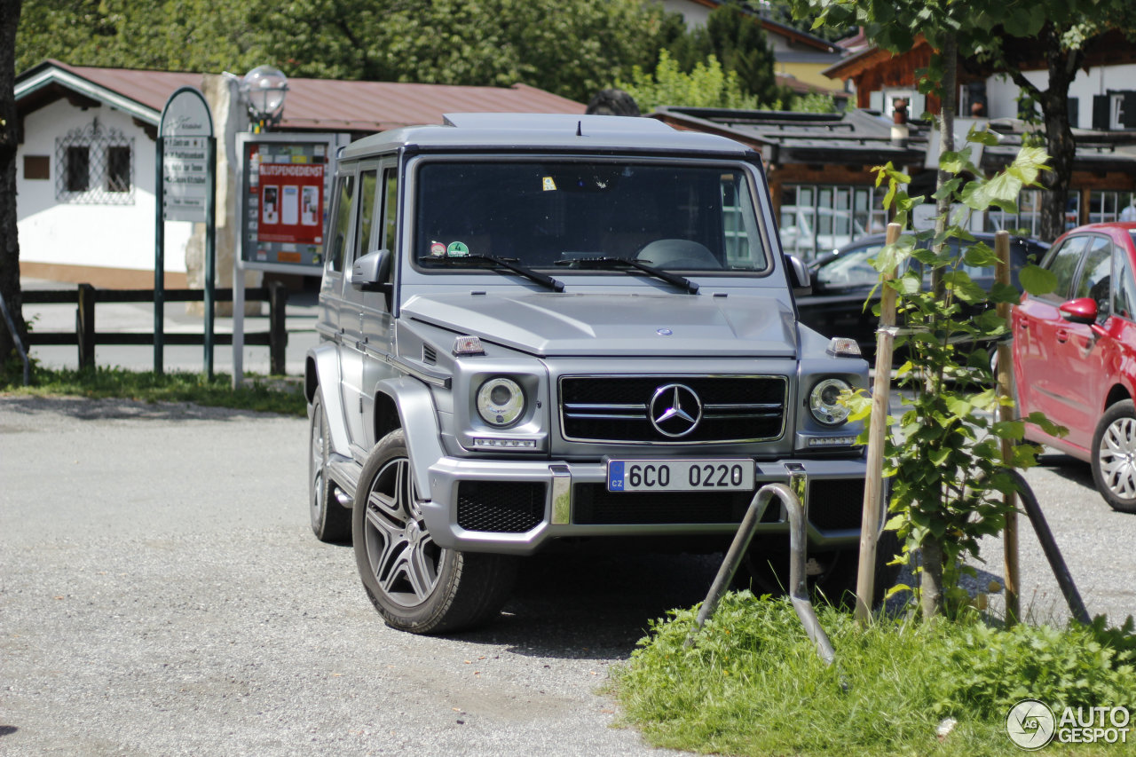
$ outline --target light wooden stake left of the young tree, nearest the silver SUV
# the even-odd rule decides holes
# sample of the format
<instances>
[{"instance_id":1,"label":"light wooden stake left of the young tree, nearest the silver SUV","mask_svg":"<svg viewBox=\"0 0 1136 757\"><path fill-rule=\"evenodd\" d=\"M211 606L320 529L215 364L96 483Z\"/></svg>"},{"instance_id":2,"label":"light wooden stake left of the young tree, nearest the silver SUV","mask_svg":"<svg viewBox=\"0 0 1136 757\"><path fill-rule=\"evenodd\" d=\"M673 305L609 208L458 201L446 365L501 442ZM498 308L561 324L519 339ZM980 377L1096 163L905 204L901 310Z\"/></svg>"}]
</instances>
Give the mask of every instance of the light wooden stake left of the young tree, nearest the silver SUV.
<instances>
[{"instance_id":1,"label":"light wooden stake left of the young tree, nearest the silver SUV","mask_svg":"<svg viewBox=\"0 0 1136 757\"><path fill-rule=\"evenodd\" d=\"M900 239L900 225L887 224L887 244ZM895 268L884 281L895 278ZM871 423L868 426L868 472L863 482L863 515L860 521L860 566L855 582L855 619L862 625L871 617L876 583L876 542L884 491L884 434L892 389L892 351L895 342L895 290L882 285L879 331L876 332L876 378L871 386Z\"/></svg>"}]
</instances>

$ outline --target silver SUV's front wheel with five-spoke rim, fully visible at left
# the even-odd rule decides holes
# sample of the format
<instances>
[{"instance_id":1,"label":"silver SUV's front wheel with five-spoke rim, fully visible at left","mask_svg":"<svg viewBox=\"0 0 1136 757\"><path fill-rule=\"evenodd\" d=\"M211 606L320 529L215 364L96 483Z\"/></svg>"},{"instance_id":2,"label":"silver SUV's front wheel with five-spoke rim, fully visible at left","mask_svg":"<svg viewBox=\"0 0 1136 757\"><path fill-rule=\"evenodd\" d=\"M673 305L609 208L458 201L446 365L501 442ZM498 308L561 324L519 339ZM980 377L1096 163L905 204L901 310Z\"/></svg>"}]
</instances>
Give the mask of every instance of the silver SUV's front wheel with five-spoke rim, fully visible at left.
<instances>
[{"instance_id":1,"label":"silver SUV's front wheel with five-spoke rim, fully visible at left","mask_svg":"<svg viewBox=\"0 0 1136 757\"><path fill-rule=\"evenodd\" d=\"M434 543L415 498L401 429L384 436L367 458L351 521L364 589L394 629L468 629L495 616L512 591L517 558Z\"/></svg>"}]
</instances>

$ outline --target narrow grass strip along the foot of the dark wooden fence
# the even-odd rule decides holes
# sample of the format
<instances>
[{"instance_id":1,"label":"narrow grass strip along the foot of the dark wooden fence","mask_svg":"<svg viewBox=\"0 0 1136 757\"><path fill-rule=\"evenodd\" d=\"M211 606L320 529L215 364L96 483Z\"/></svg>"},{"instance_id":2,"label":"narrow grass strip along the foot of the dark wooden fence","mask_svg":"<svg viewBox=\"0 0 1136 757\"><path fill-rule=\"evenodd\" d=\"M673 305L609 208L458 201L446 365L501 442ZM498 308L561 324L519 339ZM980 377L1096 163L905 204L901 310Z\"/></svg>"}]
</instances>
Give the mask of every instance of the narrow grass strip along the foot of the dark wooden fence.
<instances>
[{"instance_id":1,"label":"narrow grass strip along the foot of the dark wooden fence","mask_svg":"<svg viewBox=\"0 0 1136 757\"><path fill-rule=\"evenodd\" d=\"M204 374L187 372L156 374L125 368L72 371L36 366L32 371L32 385L24 386L18 363L9 363L7 369L0 372L0 394L194 402L299 416L307 413L300 380L284 376L245 375L244 384L234 390L232 377L223 373L209 381Z\"/></svg>"}]
</instances>

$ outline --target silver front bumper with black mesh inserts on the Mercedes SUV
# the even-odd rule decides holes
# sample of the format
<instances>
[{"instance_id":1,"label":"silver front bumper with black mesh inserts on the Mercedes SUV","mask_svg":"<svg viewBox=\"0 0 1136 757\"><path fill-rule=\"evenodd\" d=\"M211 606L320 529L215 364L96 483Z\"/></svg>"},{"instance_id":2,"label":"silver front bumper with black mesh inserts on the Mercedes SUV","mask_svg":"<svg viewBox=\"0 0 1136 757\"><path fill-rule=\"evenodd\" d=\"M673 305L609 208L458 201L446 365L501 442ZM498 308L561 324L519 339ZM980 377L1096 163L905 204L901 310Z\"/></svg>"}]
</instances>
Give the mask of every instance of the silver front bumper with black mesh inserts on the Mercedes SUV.
<instances>
[{"instance_id":1,"label":"silver front bumper with black mesh inserts on the Mercedes SUV","mask_svg":"<svg viewBox=\"0 0 1136 757\"><path fill-rule=\"evenodd\" d=\"M809 547L859 543L864 460L759 460L757 489L790 483L791 471L803 483ZM755 493L608 493L605 476L603 463L443 457L428 469L423 516L441 547L532 555L566 536L728 535ZM769 508L758 534L787 534L784 513L776 510Z\"/></svg>"}]
</instances>

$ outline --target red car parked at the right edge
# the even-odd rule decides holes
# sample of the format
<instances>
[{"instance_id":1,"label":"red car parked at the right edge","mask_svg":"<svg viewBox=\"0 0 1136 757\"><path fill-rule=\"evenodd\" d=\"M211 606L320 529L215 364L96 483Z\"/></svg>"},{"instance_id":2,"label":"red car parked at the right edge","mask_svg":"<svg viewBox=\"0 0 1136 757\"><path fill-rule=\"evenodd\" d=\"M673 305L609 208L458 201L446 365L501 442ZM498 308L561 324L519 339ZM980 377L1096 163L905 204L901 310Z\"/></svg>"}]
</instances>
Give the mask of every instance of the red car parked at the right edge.
<instances>
[{"instance_id":1,"label":"red car parked at the right edge","mask_svg":"<svg viewBox=\"0 0 1136 757\"><path fill-rule=\"evenodd\" d=\"M1069 434L1026 438L1091 463L1109 505L1136 513L1136 223L1074 228L1042 266L1056 289L1013 308L1018 407Z\"/></svg>"}]
</instances>

